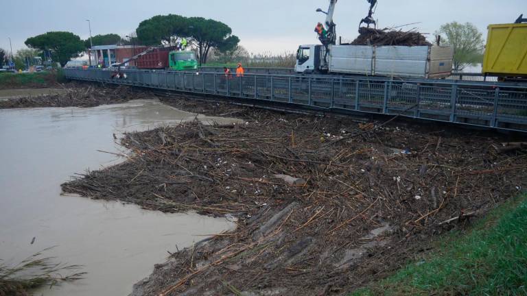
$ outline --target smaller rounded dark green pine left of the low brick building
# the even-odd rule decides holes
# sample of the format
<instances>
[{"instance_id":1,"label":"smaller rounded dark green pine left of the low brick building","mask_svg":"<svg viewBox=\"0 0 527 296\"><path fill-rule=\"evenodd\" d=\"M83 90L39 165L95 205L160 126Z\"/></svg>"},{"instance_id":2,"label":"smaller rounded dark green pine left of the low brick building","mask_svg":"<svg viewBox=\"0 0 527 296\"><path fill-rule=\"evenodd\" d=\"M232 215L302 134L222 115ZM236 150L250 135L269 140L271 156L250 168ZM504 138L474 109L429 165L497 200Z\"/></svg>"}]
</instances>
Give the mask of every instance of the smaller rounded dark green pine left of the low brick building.
<instances>
[{"instance_id":1,"label":"smaller rounded dark green pine left of the low brick building","mask_svg":"<svg viewBox=\"0 0 527 296\"><path fill-rule=\"evenodd\" d=\"M84 51L84 42L71 32L47 32L28 38L25 45L32 49L51 51L52 60L60 62L62 66L71 58L78 58L79 53Z\"/></svg>"}]
</instances>

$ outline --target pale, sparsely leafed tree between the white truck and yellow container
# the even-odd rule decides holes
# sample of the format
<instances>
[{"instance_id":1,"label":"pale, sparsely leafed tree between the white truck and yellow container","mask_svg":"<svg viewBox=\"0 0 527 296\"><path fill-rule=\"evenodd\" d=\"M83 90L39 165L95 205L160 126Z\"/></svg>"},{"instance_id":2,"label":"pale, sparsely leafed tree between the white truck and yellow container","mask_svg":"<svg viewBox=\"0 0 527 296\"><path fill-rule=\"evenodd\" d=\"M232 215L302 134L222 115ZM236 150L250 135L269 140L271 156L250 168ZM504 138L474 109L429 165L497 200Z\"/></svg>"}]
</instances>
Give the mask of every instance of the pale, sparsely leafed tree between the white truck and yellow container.
<instances>
[{"instance_id":1,"label":"pale, sparsely leafed tree between the white truck and yellow container","mask_svg":"<svg viewBox=\"0 0 527 296\"><path fill-rule=\"evenodd\" d=\"M438 35L446 37L445 43L454 47L454 70L462 71L469 65L483 61L483 34L471 24L447 23L439 29Z\"/></svg>"}]
</instances>

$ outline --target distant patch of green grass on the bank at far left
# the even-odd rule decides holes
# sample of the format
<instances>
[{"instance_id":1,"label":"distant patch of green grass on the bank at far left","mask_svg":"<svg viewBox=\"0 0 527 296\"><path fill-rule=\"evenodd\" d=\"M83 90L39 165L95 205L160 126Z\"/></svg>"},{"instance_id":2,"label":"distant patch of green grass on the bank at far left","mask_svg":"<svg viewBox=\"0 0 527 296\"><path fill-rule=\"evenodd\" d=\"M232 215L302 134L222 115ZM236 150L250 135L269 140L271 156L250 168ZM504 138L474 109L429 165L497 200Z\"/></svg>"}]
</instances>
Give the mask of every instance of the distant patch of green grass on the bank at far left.
<instances>
[{"instance_id":1,"label":"distant patch of green grass on the bank at far left","mask_svg":"<svg viewBox=\"0 0 527 296\"><path fill-rule=\"evenodd\" d=\"M55 84L59 77L56 71L0 73L0 88L46 87Z\"/></svg>"}]
</instances>

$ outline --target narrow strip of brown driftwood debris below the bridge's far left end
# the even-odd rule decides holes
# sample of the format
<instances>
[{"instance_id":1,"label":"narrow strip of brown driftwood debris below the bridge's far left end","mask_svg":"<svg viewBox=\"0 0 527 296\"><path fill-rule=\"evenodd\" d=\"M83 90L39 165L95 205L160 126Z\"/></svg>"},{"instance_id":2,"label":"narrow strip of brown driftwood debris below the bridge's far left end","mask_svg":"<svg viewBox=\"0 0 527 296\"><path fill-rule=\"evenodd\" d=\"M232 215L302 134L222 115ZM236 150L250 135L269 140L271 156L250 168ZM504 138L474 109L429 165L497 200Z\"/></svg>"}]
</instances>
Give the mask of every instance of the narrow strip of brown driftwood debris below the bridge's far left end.
<instances>
[{"instance_id":1,"label":"narrow strip of brown driftwood debris below the bridge's far left end","mask_svg":"<svg viewBox=\"0 0 527 296\"><path fill-rule=\"evenodd\" d=\"M89 84L62 84L60 91L30 93L14 98L1 99L0 109L42 107L95 107L126 103L132 99L150 99L149 93L139 92L128 86L102 87ZM8 90L4 90L7 92ZM15 93L15 92L13 92Z\"/></svg>"}]
</instances>

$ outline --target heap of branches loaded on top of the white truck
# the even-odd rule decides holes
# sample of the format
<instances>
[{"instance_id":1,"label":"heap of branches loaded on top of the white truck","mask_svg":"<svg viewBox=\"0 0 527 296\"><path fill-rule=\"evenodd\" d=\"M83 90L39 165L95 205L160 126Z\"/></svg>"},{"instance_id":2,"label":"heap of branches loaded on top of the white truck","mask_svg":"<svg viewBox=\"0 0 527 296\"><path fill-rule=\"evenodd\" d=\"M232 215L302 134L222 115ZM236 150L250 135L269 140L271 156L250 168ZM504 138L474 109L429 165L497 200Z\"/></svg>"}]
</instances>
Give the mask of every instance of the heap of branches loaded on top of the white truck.
<instances>
[{"instance_id":1,"label":"heap of branches loaded on top of the white truck","mask_svg":"<svg viewBox=\"0 0 527 296\"><path fill-rule=\"evenodd\" d=\"M374 29L361 27L360 35L351 42L351 45L400 45L419 46L431 45L423 34L415 31L396 31L390 29Z\"/></svg>"}]
</instances>

